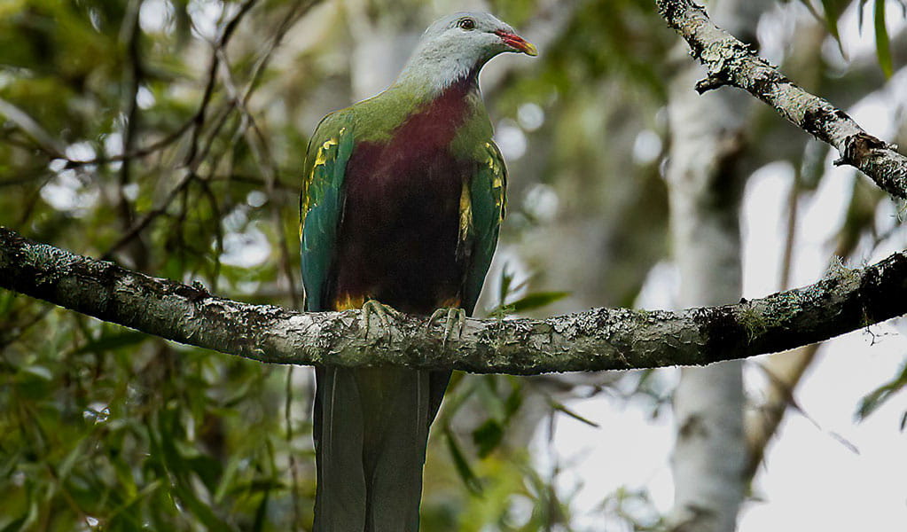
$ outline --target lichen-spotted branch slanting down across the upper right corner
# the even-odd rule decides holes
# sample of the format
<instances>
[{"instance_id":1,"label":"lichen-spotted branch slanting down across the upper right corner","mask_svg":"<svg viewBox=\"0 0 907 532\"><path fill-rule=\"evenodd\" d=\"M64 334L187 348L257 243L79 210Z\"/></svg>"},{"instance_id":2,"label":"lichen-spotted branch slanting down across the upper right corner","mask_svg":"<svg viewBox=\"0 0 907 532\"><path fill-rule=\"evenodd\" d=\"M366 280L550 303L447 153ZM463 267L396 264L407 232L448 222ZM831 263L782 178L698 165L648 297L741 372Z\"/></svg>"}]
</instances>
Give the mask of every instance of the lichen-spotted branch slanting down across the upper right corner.
<instances>
[{"instance_id":1,"label":"lichen-spotted branch slanting down across the upper right corner","mask_svg":"<svg viewBox=\"0 0 907 532\"><path fill-rule=\"evenodd\" d=\"M746 44L719 28L692 0L656 0L658 13L689 44L707 68L698 92L732 85L771 105L775 111L841 155L835 164L860 169L892 196L907 198L907 157L870 135L844 111L804 91Z\"/></svg>"}]
</instances>

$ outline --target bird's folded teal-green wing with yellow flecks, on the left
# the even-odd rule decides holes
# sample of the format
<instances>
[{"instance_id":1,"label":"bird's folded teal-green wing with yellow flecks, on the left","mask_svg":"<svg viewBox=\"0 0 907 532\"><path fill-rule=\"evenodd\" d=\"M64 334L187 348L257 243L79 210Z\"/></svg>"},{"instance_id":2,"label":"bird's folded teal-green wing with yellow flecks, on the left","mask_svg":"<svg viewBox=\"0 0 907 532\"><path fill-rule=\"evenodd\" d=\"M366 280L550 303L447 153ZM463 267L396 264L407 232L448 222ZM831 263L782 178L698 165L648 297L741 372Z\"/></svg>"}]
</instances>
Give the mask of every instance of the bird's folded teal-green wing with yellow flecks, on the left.
<instances>
[{"instance_id":1,"label":"bird's folded teal-green wing with yellow flecks, on the left","mask_svg":"<svg viewBox=\"0 0 907 532\"><path fill-rule=\"evenodd\" d=\"M328 310L326 283L343 212L346 161L353 151L353 132L342 111L327 115L318 124L306 151L299 198L302 284L305 309L321 311Z\"/></svg>"}]
</instances>

